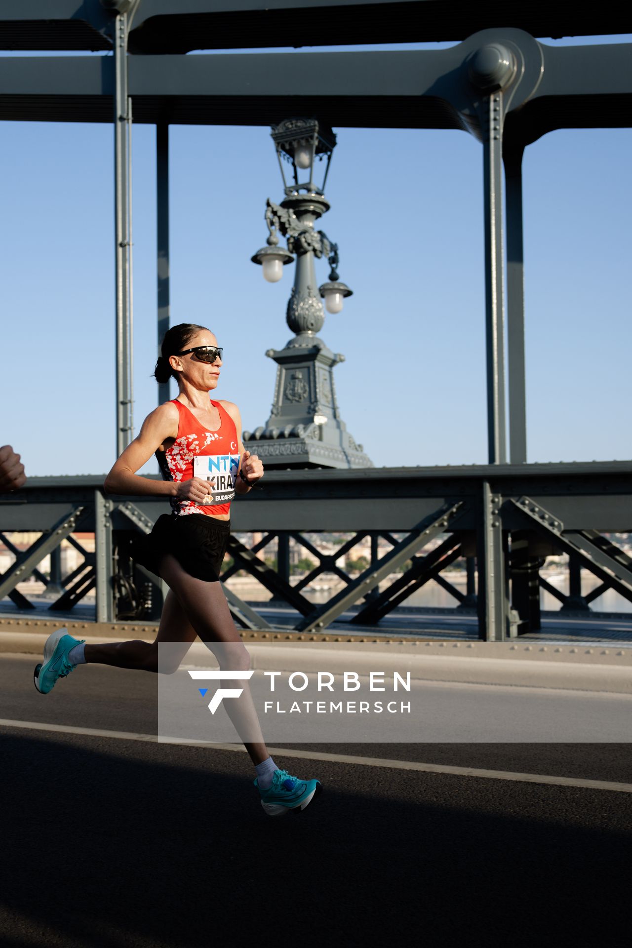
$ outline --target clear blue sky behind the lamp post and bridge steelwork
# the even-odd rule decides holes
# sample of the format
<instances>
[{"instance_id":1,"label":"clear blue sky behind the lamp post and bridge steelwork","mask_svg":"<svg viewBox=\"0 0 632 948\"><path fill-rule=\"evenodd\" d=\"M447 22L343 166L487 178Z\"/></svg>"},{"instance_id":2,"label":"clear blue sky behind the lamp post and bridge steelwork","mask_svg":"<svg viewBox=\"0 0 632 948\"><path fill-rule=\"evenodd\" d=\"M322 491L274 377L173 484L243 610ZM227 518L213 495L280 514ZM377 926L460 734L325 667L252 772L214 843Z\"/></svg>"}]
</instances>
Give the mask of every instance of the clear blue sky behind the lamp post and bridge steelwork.
<instances>
[{"instance_id":1,"label":"clear blue sky behind the lamp post and bridge steelwork","mask_svg":"<svg viewBox=\"0 0 632 948\"><path fill-rule=\"evenodd\" d=\"M342 416L375 465L484 463L481 147L456 131L335 132L321 226L353 296L320 335L347 357L335 369ZM112 127L4 122L2 137L0 443L22 453L27 474L103 473L116 444ZM263 354L291 336L293 267L267 284L250 263L266 236L265 199L282 196L277 159L263 127L174 126L171 137L172 323L216 333L218 394L256 428L276 369ZM632 457L631 158L628 129L555 132L526 152L530 461ZM134 130L134 244L137 428L157 394L146 125Z\"/></svg>"}]
</instances>

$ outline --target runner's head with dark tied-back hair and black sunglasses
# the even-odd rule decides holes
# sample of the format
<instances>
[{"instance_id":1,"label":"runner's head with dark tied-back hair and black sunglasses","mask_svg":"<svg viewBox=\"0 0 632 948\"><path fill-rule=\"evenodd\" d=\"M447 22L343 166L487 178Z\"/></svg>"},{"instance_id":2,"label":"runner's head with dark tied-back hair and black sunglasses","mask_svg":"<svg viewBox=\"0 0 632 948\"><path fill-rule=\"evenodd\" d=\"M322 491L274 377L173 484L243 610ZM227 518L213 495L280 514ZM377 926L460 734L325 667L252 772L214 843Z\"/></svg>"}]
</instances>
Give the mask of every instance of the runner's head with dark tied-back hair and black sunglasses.
<instances>
[{"instance_id":1,"label":"runner's head with dark tied-back hair and black sunglasses","mask_svg":"<svg viewBox=\"0 0 632 948\"><path fill-rule=\"evenodd\" d=\"M190 322L172 326L160 348L153 372L156 381L164 383L173 377L179 386L186 379L195 388L216 388L222 350L216 351L217 339L205 326Z\"/></svg>"}]
</instances>

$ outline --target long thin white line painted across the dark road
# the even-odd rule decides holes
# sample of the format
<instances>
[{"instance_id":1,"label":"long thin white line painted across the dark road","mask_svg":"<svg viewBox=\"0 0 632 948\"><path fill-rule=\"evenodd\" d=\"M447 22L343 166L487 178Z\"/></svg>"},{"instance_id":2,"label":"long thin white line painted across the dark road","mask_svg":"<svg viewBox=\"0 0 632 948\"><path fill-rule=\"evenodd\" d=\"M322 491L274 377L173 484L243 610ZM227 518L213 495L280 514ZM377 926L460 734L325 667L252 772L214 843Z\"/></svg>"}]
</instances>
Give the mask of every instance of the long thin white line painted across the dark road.
<instances>
[{"instance_id":1,"label":"long thin white line painted across the dark road","mask_svg":"<svg viewBox=\"0 0 632 948\"><path fill-rule=\"evenodd\" d=\"M55 734L76 734L86 738L116 738L118 740L142 740L150 744L208 747L209 750L236 751L245 754L245 748L241 744L211 744L207 740L178 740L177 738L161 738L155 734L103 731L93 727L48 724L44 721L0 718L0 727L19 727L31 731L48 731ZM632 783L615 783L609 780L584 780L573 776L543 774L515 774L512 771L481 770L476 767L450 767L446 764L419 763L416 760L388 760L385 757L357 757L352 754L324 754L320 751L290 750L286 747L268 747L268 750L270 755L274 755L274 757L299 757L305 760L324 760L329 763L355 764L363 767L387 767L391 770L419 771L424 774L478 776L492 780L513 780L517 783L545 783L555 787L584 787L587 790L613 790L618 793L632 793Z\"/></svg>"}]
</instances>

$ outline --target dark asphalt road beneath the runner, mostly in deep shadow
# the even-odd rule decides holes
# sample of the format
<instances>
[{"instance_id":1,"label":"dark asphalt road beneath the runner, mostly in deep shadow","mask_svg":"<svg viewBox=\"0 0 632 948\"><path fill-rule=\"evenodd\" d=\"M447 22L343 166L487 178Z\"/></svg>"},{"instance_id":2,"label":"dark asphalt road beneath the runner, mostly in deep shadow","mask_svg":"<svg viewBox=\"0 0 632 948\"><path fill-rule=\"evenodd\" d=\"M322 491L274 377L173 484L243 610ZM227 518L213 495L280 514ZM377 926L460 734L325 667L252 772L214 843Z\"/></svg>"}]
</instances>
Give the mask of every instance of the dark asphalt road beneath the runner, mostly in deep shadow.
<instances>
[{"instance_id":1,"label":"dark asphalt road beneath the runner, mostly in deep shadow","mask_svg":"<svg viewBox=\"0 0 632 948\"><path fill-rule=\"evenodd\" d=\"M1 718L155 733L154 676L42 696L33 664L0 659ZM623 743L310 746L632 783ZM629 793L288 757L324 793L273 820L244 754L18 727L0 752L3 946L626 943Z\"/></svg>"}]
</instances>

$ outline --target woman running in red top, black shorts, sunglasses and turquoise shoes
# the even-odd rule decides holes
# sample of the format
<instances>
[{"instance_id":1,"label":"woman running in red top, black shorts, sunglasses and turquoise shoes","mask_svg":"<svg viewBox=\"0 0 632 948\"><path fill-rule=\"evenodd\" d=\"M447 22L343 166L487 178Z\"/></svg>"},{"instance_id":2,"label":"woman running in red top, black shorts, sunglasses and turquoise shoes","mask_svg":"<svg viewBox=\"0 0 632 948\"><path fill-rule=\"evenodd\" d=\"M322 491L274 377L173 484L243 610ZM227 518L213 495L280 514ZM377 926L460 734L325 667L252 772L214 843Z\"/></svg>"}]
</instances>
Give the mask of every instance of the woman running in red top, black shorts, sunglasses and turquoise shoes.
<instances>
[{"instance_id":1,"label":"woman running in red top, black shorts, sunglasses and turquoise shoes","mask_svg":"<svg viewBox=\"0 0 632 948\"><path fill-rule=\"evenodd\" d=\"M169 593L155 641L86 645L65 629L58 629L45 643L44 662L34 673L35 687L48 694L59 678L77 665L96 662L119 668L173 672L196 635L217 655L220 668L245 670L249 655L232 621L219 574L230 530L229 507L235 494L247 494L263 476L262 462L244 450L239 409L232 402L213 401L222 350L204 326L182 323L166 334L155 367L155 378L173 376L177 398L153 410L140 433L126 447L105 479L112 494L169 497L172 514L159 517L152 533L135 544L137 562L160 575ZM135 472L155 454L163 482L139 477ZM208 457L213 458L209 464ZM213 482L198 474L220 469ZM158 666L161 643L181 643L169 667ZM214 647L216 646L216 647ZM163 653L164 654L164 653ZM227 683L226 683L227 684ZM300 780L280 770L267 752L247 681L231 682L244 688L239 700L225 703L240 733L247 730L256 740L244 741L257 777L263 810L271 816L304 810L320 791L318 780Z\"/></svg>"}]
</instances>

